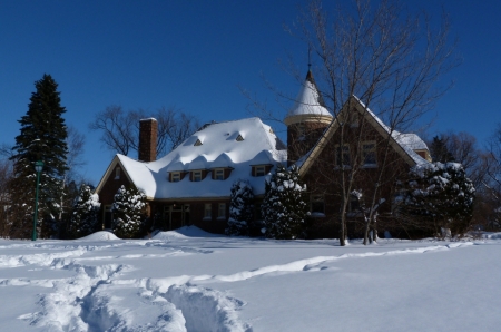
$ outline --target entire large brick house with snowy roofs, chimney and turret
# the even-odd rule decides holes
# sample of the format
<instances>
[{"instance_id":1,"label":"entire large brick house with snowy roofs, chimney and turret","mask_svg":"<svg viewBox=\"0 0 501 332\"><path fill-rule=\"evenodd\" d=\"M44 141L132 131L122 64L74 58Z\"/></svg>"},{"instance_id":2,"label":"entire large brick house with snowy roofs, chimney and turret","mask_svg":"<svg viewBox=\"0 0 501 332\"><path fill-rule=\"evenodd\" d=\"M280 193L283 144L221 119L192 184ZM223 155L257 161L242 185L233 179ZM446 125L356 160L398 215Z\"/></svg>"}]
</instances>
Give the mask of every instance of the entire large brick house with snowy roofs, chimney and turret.
<instances>
[{"instance_id":1,"label":"entire large brick house with snowy roofs, chimney and turret","mask_svg":"<svg viewBox=\"0 0 501 332\"><path fill-rule=\"evenodd\" d=\"M111 204L118 188L134 184L145 192L147 214L156 226L173 230L193 224L223 233L234 180L249 180L258 202L274 167L295 164L310 193L311 236L337 237L333 226L340 211L336 186L341 172L346 169L344 164L362 163L358 167L362 176L353 189L364 189L380 177L384 185L381 195L390 197L395 191L391 182L397 174L431 160L423 140L414 134L390 130L355 97L334 118L311 71L284 123L287 145L255 117L206 124L168 155L156 159L157 123L141 120L138 160L116 155L97 186L104 227L110 227ZM345 143L341 146L342 137ZM354 139L358 144L351 146ZM382 167L383 160L391 167ZM383 168L384 172L379 172ZM371 194L370 189L364 191ZM390 201L386 205L391 205ZM391 206L382 211L391 211ZM356 227L351 230L357 232Z\"/></svg>"}]
</instances>

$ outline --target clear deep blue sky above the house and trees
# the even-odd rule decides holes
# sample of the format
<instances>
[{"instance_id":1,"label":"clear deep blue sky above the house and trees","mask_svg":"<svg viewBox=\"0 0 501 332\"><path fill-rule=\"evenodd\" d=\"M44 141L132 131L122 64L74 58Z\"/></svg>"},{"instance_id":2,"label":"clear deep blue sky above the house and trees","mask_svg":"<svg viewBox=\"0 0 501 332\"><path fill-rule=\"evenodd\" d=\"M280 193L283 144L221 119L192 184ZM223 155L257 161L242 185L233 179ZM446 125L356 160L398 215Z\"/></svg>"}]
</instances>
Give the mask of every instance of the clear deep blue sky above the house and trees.
<instances>
[{"instance_id":1,"label":"clear deep blue sky above the house and trees","mask_svg":"<svg viewBox=\"0 0 501 332\"><path fill-rule=\"evenodd\" d=\"M175 106L202 121L232 120L249 116L240 86L284 114L261 76L291 96L298 91L278 60L291 55L307 70L306 47L283 29L294 23L301 3L0 1L0 144L13 145L33 82L43 74L59 84L67 124L86 135L81 172L95 185L112 153L88 124L107 106ZM440 12L439 1L407 3L434 17ZM501 2L442 3L463 64L445 78L455 85L425 119L434 119L428 133L466 131L482 144L501 121Z\"/></svg>"}]
</instances>

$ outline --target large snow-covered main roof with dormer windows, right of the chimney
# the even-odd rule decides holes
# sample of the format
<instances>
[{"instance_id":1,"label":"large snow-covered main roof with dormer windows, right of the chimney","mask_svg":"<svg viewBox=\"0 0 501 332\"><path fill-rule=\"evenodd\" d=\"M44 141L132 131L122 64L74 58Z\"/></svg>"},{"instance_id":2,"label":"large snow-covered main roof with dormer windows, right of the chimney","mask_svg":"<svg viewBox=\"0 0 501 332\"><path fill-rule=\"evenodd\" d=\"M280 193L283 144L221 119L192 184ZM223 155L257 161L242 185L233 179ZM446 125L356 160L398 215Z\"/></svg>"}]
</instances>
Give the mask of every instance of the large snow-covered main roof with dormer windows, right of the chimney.
<instances>
[{"instance_id":1,"label":"large snow-covered main roof with dormer windows, right of the chimney","mask_svg":"<svg viewBox=\"0 0 501 332\"><path fill-rule=\"evenodd\" d=\"M243 138L237 140L240 136ZM196 145L196 141L202 145ZM144 163L117 155L132 183L151 198L227 197L235 179L246 178L254 194L265 191L263 177L252 177L253 165L286 163L284 144L259 118L210 124L202 127L163 158ZM202 182L168 182L168 172L230 167L229 177L214 180L210 174Z\"/></svg>"}]
</instances>

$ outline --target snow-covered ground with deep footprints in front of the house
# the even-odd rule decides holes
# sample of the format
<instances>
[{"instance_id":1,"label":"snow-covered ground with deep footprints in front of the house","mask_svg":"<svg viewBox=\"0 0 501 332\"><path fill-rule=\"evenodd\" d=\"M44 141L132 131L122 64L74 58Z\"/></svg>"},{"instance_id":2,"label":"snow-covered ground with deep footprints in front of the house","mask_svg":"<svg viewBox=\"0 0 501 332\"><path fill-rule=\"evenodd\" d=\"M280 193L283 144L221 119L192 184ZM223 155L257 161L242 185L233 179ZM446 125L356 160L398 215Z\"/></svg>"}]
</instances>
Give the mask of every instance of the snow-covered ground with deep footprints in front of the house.
<instances>
[{"instance_id":1,"label":"snow-covered ground with deep footprints in front of the house","mask_svg":"<svg viewBox=\"0 0 501 332\"><path fill-rule=\"evenodd\" d=\"M500 331L501 235L0 240L1 331Z\"/></svg>"}]
</instances>

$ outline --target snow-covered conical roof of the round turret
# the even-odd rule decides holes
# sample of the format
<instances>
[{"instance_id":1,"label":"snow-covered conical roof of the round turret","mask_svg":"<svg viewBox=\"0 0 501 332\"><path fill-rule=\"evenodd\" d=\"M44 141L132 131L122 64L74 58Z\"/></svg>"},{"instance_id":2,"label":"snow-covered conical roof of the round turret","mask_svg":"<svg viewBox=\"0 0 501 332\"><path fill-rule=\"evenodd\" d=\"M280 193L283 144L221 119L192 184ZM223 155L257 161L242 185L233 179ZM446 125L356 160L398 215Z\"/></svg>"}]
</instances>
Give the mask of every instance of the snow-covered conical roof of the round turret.
<instances>
[{"instance_id":1,"label":"snow-covered conical roof of the round turret","mask_svg":"<svg viewBox=\"0 0 501 332\"><path fill-rule=\"evenodd\" d=\"M286 118L302 115L332 117L331 113L325 108L325 104L316 88L311 71L308 71L306 80L295 99L294 106L287 113Z\"/></svg>"}]
</instances>

